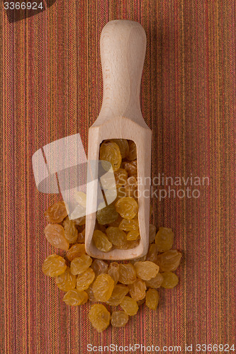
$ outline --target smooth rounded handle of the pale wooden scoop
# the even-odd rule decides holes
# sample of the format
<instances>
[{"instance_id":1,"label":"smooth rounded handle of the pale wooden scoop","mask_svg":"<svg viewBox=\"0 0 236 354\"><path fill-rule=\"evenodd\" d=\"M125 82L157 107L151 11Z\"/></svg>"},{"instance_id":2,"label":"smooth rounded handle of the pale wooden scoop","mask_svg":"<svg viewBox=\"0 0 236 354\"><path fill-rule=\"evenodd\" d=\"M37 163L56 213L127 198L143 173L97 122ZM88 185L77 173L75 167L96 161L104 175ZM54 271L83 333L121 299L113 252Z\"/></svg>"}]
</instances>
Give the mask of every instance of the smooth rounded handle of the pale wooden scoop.
<instances>
[{"instance_id":1,"label":"smooth rounded handle of the pale wooden scoop","mask_svg":"<svg viewBox=\"0 0 236 354\"><path fill-rule=\"evenodd\" d=\"M140 82L146 51L146 34L140 23L108 22L101 32L103 103L100 116L143 120Z\"/></svg>"}]
</instances>

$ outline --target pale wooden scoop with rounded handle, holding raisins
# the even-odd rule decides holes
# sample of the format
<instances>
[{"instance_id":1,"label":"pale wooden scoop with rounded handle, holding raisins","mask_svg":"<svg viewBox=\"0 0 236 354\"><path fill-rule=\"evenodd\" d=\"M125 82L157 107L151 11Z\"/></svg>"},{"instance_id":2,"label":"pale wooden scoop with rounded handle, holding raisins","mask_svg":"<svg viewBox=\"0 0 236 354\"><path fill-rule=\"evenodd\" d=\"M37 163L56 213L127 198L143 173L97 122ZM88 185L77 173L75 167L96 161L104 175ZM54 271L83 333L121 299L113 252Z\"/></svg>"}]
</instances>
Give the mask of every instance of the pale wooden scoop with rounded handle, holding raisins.
<instances>
[{"instance_id":1,"label":"pale wooden scoop with rounded handle, holding raisins","mask_svg":"<svg viewBox=\"0 0 236 354\"><path fill-rule=\"evenodd\" d=\"M149 244L150 165L152 131L140 110L140 81L145 59L146 35L140 23L128 20L108 22L102 30L101 64L103 103L96 122L89 128L89 161L99 160L99 146L105 139L130 139L137 147L138 221L140 244L134 249L96 249L92 241L96 212L86 215L86 252L95 258L125 260L144 256ZM87 187L86 208L96 204L97 187Z\"/></svg>"}]
</instances>

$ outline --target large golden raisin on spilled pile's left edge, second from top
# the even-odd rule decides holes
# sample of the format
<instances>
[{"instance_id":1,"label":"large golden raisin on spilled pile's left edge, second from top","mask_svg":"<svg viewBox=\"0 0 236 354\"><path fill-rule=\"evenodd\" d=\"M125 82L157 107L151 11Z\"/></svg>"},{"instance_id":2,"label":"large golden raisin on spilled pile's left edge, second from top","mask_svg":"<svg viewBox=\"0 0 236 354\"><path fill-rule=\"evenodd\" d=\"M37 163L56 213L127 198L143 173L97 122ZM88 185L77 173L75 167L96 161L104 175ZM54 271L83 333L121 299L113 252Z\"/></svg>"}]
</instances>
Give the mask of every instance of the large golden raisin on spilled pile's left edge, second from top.
<instances>
[{"instance_id":1,"label":"large golden raisin on spilled pile's left edge, second from top","mask_svg":"<svg viewBox=\"0 0 236 354\"><path fill-rule=\"evenodd\" d=\"M69 242L64 237L64 228L59 224L47 224L44 230L47 241L57 249L67 251Z\"/></svg>"}]
</instances>

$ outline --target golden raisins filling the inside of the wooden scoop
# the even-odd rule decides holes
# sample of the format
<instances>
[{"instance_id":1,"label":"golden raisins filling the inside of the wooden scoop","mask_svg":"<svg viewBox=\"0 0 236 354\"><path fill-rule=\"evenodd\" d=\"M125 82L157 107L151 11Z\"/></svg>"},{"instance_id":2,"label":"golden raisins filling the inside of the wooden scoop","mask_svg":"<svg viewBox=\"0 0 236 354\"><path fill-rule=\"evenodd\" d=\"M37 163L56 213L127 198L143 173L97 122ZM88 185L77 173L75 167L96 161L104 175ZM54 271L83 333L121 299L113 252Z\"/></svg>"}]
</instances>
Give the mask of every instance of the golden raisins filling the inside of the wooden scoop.
<instances>
[{"instance_id":1,"label":"golden raisins filling the inside of the wooden scoop","mask_svg":"<svg viewBox=\"0 0 236 354\"><path fill-rule=\"evenodd\" d=\"M102 142L100 160L108 161L116 181L116 199L96 213L93 241L97 249L133 249L139 244L136 144L127 139ZM106 169L106 168L105 168ZM108 184L108 183L107 183ZM113 190L107 190L109 195Z\"/></svg>"}]
</instances>

